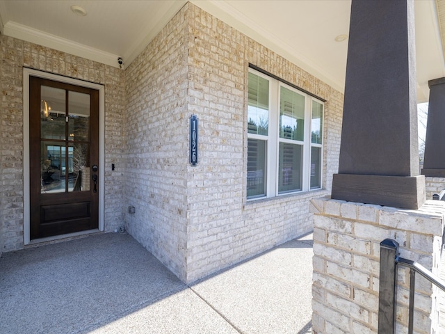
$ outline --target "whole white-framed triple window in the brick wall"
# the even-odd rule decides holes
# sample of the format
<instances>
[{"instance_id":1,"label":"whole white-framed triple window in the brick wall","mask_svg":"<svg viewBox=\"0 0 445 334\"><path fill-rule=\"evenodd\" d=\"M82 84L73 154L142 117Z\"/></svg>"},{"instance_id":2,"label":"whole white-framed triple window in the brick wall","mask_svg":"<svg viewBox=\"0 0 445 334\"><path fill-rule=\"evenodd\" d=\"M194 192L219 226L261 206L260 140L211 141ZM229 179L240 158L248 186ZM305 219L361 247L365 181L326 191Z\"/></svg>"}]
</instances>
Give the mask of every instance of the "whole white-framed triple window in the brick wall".
<instances>
[{"instance_id":1,"label":"whole white-framed triple window in the brick wall","mask_svg":"<svg viewBox=\"0 0 445 334\"><path fill-rule=\"evenodd\" d=\"M249 69L247 198L321 188L323 102Z\"/></svg>"}]
</instances>

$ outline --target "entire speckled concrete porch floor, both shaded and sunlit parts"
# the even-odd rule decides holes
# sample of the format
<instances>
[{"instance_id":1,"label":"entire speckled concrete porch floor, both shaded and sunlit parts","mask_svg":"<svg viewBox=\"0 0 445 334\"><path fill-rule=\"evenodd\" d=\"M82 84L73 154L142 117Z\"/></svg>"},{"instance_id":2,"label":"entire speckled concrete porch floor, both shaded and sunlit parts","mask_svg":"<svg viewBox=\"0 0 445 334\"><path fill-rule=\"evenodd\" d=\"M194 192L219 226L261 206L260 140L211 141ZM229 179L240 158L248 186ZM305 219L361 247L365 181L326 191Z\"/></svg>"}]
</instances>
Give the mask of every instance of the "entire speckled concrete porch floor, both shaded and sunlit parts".
<instances>
[{"instance_id":1,"label":"entire speckled concrete porch floor, both shaded and sunlit parts","mask_svg":"<svg viewBox=\"0 0 445 334\"><path fill-rule=\"evenodd\" d=\"M129 234L4 253L0 333L311 333L312 234L185 285Z\"/></svg>"}]
</instances>

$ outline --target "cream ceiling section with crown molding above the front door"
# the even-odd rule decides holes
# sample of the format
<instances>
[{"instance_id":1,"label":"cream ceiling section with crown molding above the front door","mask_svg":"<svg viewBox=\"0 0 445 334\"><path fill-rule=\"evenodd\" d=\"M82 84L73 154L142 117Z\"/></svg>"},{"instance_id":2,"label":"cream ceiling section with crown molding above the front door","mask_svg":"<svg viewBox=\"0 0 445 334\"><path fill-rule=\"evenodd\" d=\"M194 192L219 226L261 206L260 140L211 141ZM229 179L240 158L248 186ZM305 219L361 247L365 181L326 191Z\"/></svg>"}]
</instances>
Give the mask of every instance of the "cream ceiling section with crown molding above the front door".
<instances>
[{"instance_id":1,"label":"cream ceiling section with crown molding above the front door","mask_svg":"<svg viewBox=\"0 0 445 334\"><path fill-rule=\"evenodd\" d=\"M14 38L119 67L129 65L186 0L0 1L1 32ZM86 10L72 13L71 6Z\"/></svg>"}]
</instances>

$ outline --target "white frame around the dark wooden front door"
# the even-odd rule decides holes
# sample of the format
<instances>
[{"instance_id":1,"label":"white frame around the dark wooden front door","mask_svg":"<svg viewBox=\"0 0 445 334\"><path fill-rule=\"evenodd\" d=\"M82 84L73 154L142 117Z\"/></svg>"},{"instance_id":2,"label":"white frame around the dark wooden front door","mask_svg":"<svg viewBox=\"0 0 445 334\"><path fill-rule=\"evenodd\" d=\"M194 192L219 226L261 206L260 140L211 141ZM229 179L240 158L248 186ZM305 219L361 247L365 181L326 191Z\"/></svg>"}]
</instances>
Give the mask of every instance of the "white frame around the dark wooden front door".
<instances>
[{"instance_id":1,"label":"white frame around the dark wooden front door","mask_svg":"<svg viewBox=\"0 0 445 334\"><path fill-rule=\"evenodd\" d=\"M60 81L65 84L88 87L99 90L99 228L70 234L61 234L54 237L30 240L31 237L31 219L30 219L30 159L29 159L29 77L40 77ZM33 70L28 67L23 69L23 237L24 244L38 244L44 241L75 237L77 235L99 232L104 230L104 177L105 177L105 87L101 84L95 84L90 81L83 81L49 72Z\"/></svg>"}]
</instances>

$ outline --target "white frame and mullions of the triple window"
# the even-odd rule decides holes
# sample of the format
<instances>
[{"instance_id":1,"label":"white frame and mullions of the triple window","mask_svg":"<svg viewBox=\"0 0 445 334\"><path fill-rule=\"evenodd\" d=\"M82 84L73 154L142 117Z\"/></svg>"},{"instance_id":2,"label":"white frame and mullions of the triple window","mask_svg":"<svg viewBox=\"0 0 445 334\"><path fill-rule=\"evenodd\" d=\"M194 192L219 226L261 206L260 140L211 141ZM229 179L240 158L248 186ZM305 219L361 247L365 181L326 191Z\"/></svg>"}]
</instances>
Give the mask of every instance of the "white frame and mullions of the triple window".
<instances>
[{"instance_id":1,"label":"white frame and mullions of the triple window","mask_svg":"<svg viewBox=\"0 0 445 334\"><path fill-rule=\"evenodd\" d=\"M252 198L247 198L248 201L254 201L264 198L275 198L277 196L286 196L289 194L295 193L303 193L306 191L316 191L320 190L323 187L323 145L324 145L324 117L325 117L325 108L324 102L322 100L318 100L312 95L309 95L302 90L298 90L293 86L289 86L284 82L275 79L273 77L268 76L262 72L252 69L249 67L249 72L255 74L261 78L268 80L269 82L269 114L268 114L268 135L260 135L260 134L250 134L248 133L248 139L258 139L262 141L266 141L266 196L255 196ZM292 90L293 92L298 93L305 97L305 127L304 127L304 140L303 141L291 141L286 138L280 138L280 89L281 87ZM322 136L321 136L321 144L312 143L312 103L316 101L319 104L323 105L323 116L322 116ZM278 171L279 171L279 163L280 163L280 143L292 143L292 144L302 144L302 187L301 190L298 191L288 191L283 193L278 193ZM311 180L311 152L312 147L321 148L321 157L320 157L320 186L314 189L311 189L310 180ZM247 161L246 166L247 170ZM247 175L247 173L246 173ZM246 189L247 190L247 189ZM247 196L247 192L246 192Z\"/></svg>"}]
</instances>

